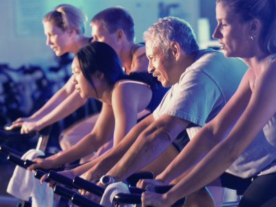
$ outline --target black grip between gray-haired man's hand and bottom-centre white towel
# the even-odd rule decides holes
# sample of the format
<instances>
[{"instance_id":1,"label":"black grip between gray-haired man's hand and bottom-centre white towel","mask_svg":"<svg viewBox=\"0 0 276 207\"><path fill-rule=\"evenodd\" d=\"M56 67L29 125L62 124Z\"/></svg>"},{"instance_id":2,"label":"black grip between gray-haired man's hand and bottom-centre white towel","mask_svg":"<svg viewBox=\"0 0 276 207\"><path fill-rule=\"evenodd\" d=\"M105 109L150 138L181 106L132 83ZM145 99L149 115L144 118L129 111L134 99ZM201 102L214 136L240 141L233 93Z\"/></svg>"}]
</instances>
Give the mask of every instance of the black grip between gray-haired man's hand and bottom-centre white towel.
<instances>
[{"instance_id":1,"label":"black grip between gray-haired man's hand and bottom-centre white towel","mask_svg":"<svg viewBox=\"0 0 276 207\"><path fill-rule=\"evenodd\" d=\"M74 186L77 186L80 189L87 190L90 193L93 193L99 197L103 195L104 188L97 186L96 184L93 184L90 181L87 181L86 179L82 179L81 177L75 177L73 179Z\"/></svg>"}]
</instances>

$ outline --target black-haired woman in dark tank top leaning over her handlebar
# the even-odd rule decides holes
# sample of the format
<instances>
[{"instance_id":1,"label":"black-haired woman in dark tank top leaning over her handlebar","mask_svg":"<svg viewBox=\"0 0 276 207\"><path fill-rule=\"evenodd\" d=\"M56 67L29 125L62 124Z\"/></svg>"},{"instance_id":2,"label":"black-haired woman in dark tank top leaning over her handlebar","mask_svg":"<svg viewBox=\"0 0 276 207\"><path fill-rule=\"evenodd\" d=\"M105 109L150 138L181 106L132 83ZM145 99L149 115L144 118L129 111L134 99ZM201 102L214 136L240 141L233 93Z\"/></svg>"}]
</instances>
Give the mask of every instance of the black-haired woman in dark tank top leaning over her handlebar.
<instances>
[{"instance_id":1,"label":"black-haired woman in dark tank top leaning over her handlebar","mask_svg":"<svg viewBox=\"0 0 276 207\"><path fill-rule=\"evenodd\" d=\"M138 112L144 109L152 112L159 104L154 98L155 90L160 87L155 78L143 73L125 75L115 50L106 43L93 42L81 48L72 62L72 73L72 83L82 98L102 102L99 118L92 132L75 146L46 159L34 159L37 164L30 166L30 170L56 168L98 148L101 150L112 132L113 146L116 146L137 124Z\"/></svg>"}]
</instances>

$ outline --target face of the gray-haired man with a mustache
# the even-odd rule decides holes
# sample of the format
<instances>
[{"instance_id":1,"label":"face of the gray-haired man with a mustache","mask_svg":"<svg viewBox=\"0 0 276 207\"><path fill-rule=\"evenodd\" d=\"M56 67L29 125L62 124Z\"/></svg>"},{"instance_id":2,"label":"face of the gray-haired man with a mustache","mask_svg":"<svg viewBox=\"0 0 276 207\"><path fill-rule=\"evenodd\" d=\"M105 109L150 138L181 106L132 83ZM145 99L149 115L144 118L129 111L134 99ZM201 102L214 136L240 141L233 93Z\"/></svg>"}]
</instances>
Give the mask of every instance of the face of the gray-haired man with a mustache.
<instances>
[{"instance_id":1,"label":"face of the gray-haired man with a mustache","mask_svg":"<svg viewBox=\"0 0 276 207\"><path fill-rule=\"evenodd\" d=\"M172 86L174 83L170 82L170 60L166 57L161 48L153 46L151 41L146 41L146 56L148 57L148 72L157 77L162 86Z\"/></svg>"}]
</instances>

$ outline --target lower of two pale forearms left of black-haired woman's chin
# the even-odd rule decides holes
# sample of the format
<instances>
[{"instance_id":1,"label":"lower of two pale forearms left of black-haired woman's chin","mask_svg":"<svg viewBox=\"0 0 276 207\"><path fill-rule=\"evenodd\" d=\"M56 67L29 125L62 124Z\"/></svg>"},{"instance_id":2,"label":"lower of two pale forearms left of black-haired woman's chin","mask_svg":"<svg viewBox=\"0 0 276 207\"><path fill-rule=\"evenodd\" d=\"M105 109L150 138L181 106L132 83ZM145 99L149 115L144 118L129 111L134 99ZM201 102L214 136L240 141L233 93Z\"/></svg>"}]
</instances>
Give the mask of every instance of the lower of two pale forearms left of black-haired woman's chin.
<instances>
[{"instance_id":1,"label":"lower of two pale forearms left of black-haired woman's chin","mask_svg":"<svg viewBox=\"0 0 276 207\"><path fill-rule=\"evenodd\" d=\"M38 121L39 128L44 128L70 115L86 102L77 92L72 92L62 103Z\"/></svg>"}]
</instances>

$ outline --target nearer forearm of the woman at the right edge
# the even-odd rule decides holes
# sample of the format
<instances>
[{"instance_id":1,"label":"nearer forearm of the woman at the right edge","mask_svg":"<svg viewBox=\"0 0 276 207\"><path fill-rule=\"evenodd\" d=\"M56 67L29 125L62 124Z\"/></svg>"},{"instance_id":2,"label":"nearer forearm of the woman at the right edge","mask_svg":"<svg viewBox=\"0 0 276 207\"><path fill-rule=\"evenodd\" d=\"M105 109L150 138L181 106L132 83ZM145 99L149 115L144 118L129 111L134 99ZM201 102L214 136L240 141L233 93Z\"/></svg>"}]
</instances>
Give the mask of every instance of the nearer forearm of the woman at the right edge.
<instances>
[{"instance_id":1,"label":"nearer forearm of the woman at the right edge","mask_svg":"<svg viewBox=\"0 0 276 207\"><path fill-rule=\"evenodd\" d=\"M262 129L262 124L252 124L252 122L259 122L259 120L256 121L256 117L258 115L246 117L244 120L241 117L226 139L210 150L204 159L199 161L181 181L169 190L168 197L176 201L181 197L194 193L219 177L233 164L240 153L250 144L250 141L254 139L259 130ZM250 126L256 127L250 128ZM245 128L250 128L250 131L244 130Z\"/></svg>"}]
</instances>

